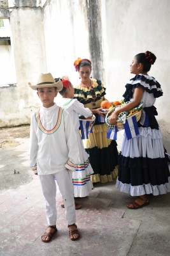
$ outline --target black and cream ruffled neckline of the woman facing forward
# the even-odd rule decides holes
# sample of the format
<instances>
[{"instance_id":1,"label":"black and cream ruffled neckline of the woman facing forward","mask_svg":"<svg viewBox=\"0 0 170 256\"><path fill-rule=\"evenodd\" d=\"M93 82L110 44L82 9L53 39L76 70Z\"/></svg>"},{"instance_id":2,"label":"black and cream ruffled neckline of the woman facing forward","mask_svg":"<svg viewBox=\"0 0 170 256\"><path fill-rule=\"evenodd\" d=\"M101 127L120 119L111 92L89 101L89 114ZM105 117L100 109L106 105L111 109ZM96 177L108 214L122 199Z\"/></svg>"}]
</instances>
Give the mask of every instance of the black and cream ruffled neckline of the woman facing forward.
<instances>
[{"instance_id":1,"label":"black and cream ruffled neckline of the woman facing forward","mask_svg":"<svg viewBox=\"0 0 170 256\"><path fill-rule=\"evenodd\" d=\"M104 88L103 84L100 80L92 79L93 86L92 90L96 94L96 99L93 99L92 91L88 88L83 88L81 86L74 87L74 99L77 99L82 104L88 104L93 101L97 101L101 99L104 95L106 95L106 88Z\"/></svg>"}]
</instances>

